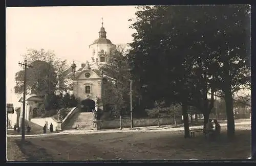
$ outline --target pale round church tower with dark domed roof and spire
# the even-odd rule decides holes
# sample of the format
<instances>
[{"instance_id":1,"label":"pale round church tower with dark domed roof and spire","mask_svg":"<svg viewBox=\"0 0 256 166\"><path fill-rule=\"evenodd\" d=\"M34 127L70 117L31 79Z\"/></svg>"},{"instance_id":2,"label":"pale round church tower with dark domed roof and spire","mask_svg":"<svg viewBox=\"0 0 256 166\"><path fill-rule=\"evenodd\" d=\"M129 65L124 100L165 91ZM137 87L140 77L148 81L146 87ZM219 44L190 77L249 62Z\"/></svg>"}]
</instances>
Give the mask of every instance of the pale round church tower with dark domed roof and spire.
<instances>
[{"instance_id":1,"label":"pale round church tower with dark domed roof and spire","mask_svg":"<svg viewBox=\"0 0 256 166\"><path fill-rule=\"evenodd\" d=\"M116 49L116 45L106 38L106 31L103 27L103 18L101 19L102 26L99 30L99 38L89 45L92 53L92 59L98 65L108 62L109 57L115 54Z\"/></svg>"}]
</instances>

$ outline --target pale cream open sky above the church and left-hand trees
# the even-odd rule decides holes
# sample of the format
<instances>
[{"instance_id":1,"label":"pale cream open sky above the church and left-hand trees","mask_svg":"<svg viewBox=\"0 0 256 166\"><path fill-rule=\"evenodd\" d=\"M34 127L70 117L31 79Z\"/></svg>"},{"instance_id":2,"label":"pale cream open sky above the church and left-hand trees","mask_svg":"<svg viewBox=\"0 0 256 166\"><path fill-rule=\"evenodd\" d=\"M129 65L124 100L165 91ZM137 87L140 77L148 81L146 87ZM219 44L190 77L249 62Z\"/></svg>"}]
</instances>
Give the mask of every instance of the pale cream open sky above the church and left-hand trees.
<instances>
[{"instance_id":1,"label":"pale cream open sky above the church and left-hand trees","mask_svg":"<svg viewBox=\"0 0 256 166\"><path fill-rule=\"evenodd\" d=\"M56 57L80 64L90 60L89 45L98 38L101 17L114 44L132 42L135 6L9 7L6 9L6 99L19 107L15 73L23 69L27 49L54 51ZM12 89L12 92L11 92Z\"/></svg>"}]
</instances>

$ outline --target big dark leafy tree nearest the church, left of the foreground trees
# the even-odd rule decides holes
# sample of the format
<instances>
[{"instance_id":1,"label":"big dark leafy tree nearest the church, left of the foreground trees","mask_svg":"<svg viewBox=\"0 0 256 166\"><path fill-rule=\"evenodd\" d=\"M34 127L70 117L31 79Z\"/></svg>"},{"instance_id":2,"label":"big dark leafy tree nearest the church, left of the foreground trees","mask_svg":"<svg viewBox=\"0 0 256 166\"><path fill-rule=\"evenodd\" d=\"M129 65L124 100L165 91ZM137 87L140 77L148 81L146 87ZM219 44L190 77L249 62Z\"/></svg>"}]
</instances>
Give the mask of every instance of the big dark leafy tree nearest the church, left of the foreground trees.
<instances>
[{"instance_id":1,"label":"big dark leafy tree nearest the church, left of the foreground trees","mask_svg":"<svg viewBox=\"0 0 256 166\"><path fill-rule=\"evenodd\" d=\"M169 6L138 9L137 19L131 26L137 32L133 34L129 57L134 80L139 87L147 86L141 90L145 103L152 105L156 100L164 100L166 104L182 105L185 137L189 137L187 107L195 83L190 79L193 59L185 49L190 46L184 45L189 38L182 31L191 31L190 27L183 26L188 21L187 11Z\"/></svg>"}]
</instances>

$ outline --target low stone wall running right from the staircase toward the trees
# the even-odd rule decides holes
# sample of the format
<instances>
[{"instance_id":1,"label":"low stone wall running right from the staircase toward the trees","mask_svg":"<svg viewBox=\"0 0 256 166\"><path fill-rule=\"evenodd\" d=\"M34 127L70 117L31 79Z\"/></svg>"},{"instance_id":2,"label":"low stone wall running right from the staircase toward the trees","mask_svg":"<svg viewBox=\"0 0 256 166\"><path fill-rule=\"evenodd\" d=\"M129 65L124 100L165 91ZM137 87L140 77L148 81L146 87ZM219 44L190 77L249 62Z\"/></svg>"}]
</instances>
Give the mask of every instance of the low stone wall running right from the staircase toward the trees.
<instances>
[{"instance_id":1,"label":"low stone wall running right from the staircase toward the trees","mask_svg":"<svg viewBox=\"0 0 256 166\"><path fill-rule=\"evenodd\" d=\"M181 123L181 118L176 118L176 123ZM160 125L174 125L174 118L159 118ZM134 127L143 127L143 126L158 126L157 118L134 118L133 119ZM122 119L122 127L131 127L130 119ZM110 120L110 121L98 121L98 129L115 129L120 128L120 120Z\"/></svg>"}]
</instances>

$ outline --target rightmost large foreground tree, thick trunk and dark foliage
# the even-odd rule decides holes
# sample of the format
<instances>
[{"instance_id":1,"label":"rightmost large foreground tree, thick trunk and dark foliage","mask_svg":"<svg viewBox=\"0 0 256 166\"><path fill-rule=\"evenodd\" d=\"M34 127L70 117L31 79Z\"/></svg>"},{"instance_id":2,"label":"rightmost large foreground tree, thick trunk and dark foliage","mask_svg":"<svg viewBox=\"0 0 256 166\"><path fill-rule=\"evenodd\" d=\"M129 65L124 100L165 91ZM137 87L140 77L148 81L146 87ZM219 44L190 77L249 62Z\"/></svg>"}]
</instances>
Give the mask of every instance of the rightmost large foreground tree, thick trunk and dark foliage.
<instances>
[{"instance_id":1,"label":"rightmost large foreground tree, thick trunk and dark foliage","mask_svg":"<svg viewBox=\"0 0 256 166\"><path fill-rule=\"evenodd\" d=\"M227 113L227 134L234 136L233 93L241 85L250 84L250 7L245 5L216 6L210 15L212 39L206 44L215 58L216 84L224 94Z\"/></svg>"}]
</instances>

